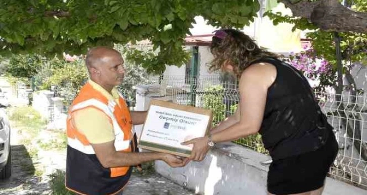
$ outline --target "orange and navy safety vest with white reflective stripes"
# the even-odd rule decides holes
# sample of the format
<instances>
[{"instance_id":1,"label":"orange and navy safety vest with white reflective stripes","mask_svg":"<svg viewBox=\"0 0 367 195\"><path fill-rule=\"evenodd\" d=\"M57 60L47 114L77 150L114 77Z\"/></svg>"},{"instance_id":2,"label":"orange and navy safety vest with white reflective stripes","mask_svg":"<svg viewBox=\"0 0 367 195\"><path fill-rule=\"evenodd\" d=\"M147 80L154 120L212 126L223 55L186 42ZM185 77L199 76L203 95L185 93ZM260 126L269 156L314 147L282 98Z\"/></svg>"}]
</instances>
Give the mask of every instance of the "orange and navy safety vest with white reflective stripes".
<instances>
[{"instance_id":1,"label":"orange and navy safety vest with white reflective stripes","mask_svg":"<svg viewBox=\"0 0 367 195\"><path fill-rule=\"evenodd\" d=\"M73 112L88 107L101 110L109 117L115 132L116 151L137 152L136 136L131 131L130 112L122 95L120 94L118 105L87 83L74 99L68 112L65 185L79 194L116 194L128 182L131 167L104 168L101 165L93 147L72 122Z\"/></svg>"}]
</instances>

